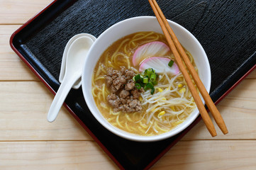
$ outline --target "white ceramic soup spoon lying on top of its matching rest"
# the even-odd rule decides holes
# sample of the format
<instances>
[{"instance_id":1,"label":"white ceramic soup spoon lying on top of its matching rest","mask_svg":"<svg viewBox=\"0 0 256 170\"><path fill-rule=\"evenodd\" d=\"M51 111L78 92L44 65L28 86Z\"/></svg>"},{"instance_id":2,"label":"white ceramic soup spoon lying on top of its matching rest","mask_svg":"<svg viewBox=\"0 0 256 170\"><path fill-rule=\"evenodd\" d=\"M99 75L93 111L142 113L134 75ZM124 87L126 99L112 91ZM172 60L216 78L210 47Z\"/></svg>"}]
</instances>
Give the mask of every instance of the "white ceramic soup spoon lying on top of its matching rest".
<instances>
[{"instance_id":1,"label":"white ceramic soup spoon lying on top of its matching rest","mask_svg":"<svg viewBox=\"0 0 256 170\"><path fill-rule=\"evenodd\" d=\"M80 37L70 45L67 51L65 76L48 112L47 118L49 122L53 122L56 119L67 94L72 89L74 83L81 77L84 59L93 43L94 41L91 38Z\"/></svg>"}]
</instances>

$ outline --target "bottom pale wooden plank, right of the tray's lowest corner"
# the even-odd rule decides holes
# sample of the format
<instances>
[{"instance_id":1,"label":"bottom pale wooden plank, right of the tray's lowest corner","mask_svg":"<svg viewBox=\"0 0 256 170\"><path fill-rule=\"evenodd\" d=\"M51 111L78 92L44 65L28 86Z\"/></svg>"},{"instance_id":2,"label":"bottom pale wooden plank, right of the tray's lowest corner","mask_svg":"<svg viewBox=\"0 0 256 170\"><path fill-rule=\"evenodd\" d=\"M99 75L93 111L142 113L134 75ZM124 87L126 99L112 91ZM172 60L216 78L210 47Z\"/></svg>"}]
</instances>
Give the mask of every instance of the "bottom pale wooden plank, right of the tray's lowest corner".
<instances>
[{"instance_id":1,"label":"bottom pale wooden plank, right of the tray's lowest corner","mask_svg":"<svg viewBox=\"0 0 256 170\"><path fill-rule=\"evenodd\" d=\"M255 140L179 142L152 169L256 169Z\"/></svg>"}]
</instances>

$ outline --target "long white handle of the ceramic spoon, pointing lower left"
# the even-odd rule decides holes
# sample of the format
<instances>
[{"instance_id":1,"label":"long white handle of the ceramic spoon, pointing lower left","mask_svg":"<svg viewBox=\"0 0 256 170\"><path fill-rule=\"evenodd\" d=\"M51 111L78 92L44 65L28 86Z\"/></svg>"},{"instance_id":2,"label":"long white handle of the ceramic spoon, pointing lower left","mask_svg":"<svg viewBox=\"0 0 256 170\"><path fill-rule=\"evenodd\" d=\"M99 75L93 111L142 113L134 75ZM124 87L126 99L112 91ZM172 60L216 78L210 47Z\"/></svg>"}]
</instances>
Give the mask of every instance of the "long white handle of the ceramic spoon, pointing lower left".
<instances>
[{"instance_id":1,"label":"long white handle of the ceramic spoon, pointing lower left","mask_svg":"<svg viewBox=\"0 0 256 170\"><path fill-rule=\"evenodd\" d=\"M47 119L49 122L53 122L57 114L60 111L60 108L62 107L62 104L65 101L65 98L67 97L67 94L69 93L70 89L72 88L73 84L77 81L77 79L72 79L65 77L62 81L62 84L60 84L60 88L57 91L57 94L55 95L55 98L52 101L52 105L50 106Z\"/></svg>"}]
</instances>

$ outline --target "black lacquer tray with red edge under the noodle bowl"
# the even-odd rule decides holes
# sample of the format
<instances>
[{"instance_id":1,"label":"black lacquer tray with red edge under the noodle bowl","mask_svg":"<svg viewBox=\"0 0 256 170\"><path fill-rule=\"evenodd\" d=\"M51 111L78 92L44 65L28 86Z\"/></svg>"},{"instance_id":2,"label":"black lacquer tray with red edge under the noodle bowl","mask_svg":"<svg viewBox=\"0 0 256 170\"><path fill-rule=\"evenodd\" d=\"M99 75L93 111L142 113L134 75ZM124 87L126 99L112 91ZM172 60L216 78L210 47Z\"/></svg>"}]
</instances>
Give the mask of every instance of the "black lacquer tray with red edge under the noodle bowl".
<instances>
[{"instance_id":1,"label":"black lacquer tray with red edge under the noodle bowl","mask_svg":"<svg viewBox=\"0 0 256 170\"><path fill-rule=\"evenodd\" d=\"M211 65L211 97L218 103L256 64L256 2L162 0L166 18L187 28L201 42ZM53 1L11 36L11 47L53 94L60 83L62 53L69 38L78 33L98 37L118 21L134 16L154 16L147 0ZM82 89L70 91L65 101L77 119L120 169L149 169L196 123L160 142L132 142L113 135L91 115Z\"/></svg>"}]
</instances>

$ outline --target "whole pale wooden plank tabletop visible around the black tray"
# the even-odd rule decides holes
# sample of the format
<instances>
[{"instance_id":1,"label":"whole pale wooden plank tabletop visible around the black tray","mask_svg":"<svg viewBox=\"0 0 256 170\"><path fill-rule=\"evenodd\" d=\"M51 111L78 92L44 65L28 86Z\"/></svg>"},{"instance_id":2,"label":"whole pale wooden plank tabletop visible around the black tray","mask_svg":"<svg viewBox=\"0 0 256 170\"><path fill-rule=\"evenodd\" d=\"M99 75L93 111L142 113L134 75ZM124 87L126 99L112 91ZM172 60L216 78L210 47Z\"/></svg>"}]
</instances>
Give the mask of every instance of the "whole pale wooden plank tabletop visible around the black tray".
<instances>
[{"instance_id":1,"label":"whole pale wooden plank tabletop visible around the black tray","mask_svg":"<svg viewBox=\"0 0 256 170\"><path fill-rule=\"evenodd\" d=\"M0 0L0 169L118 169L9 45L11 34L51 0ZM198 123L152 169L256 169L256 70L218 103L228 135ZM217 126L216 126L217 127Z\"/></svg>"}]
</instances>

